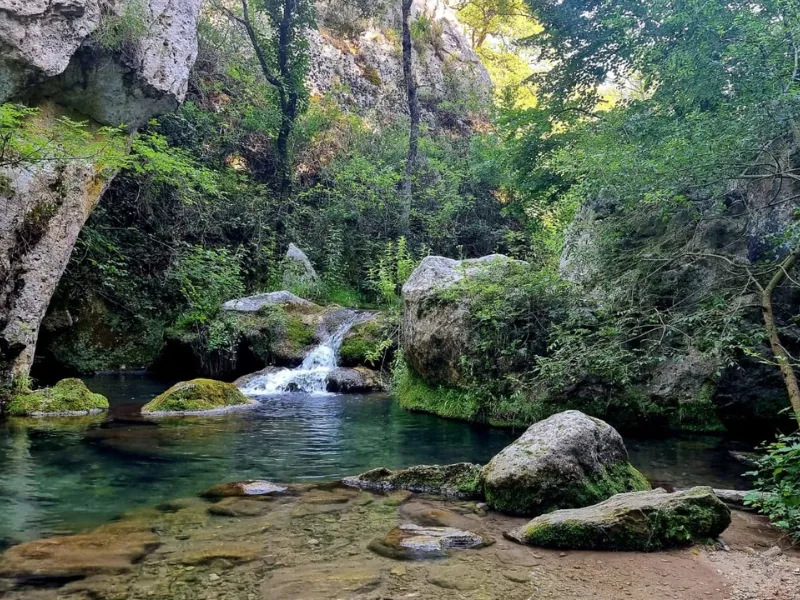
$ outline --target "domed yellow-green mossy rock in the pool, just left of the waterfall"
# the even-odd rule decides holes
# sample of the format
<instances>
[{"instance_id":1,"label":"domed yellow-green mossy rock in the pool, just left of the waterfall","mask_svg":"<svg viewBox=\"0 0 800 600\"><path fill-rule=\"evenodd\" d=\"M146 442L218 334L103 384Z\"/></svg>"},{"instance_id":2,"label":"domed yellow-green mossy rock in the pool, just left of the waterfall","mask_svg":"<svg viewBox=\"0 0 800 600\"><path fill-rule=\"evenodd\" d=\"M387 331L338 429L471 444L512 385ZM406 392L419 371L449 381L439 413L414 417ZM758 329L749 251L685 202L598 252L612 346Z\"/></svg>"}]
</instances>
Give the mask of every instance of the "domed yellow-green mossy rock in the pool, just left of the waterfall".
<instances>
[{"instance_id":1,"label":"domed yellow-green mossy rock in the pool, just left of the waterfall","mask_svg":"<svg viewBox=\"0 0 800 600\"><path fill-rule=\"evenodd\" d=\"M177 383L142 408L145 415L221 413L256 406L231 383L194 379Z\"/></svg>"}]
</instances>

